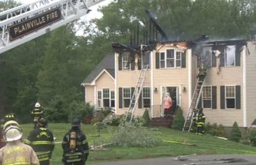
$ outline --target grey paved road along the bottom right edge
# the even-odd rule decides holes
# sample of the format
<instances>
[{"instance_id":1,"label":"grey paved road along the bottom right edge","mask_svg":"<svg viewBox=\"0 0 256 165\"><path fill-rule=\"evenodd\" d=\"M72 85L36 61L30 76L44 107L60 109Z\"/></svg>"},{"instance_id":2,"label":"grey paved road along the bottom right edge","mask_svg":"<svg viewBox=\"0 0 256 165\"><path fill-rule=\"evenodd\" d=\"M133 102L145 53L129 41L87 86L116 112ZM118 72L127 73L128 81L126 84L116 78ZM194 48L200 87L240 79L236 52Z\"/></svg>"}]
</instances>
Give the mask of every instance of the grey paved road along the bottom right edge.
<instances>
[{"instance_id":1,"label":"grey paved road along the bottom right edge","mask_svg":"<svg viewBox=\"0 0 256 165\"><path fill-rule=\"evenodd\" d=\"M242 162L238 163L220 163L220 161L209 161L212 159L229 159L229 158L235 158L235 159L242 159ZM202 155L202 156L190 156L186 159L190 159L190 161L176 161L174 158L153 158L153 159L138 159L138 160L129 160L129 161L116 161L116 162L110 162L110 163L98 163L98 164L92 164L92 165L184 165L184 164L191 164L194 163L195 165L198 164L214 164L214 165L252 165L256 164L256 155ZM191 161L191 159L194 160L204 160L204 161ZM194 165L193 164L193 165Z\"/></svg>"}]
</instances>

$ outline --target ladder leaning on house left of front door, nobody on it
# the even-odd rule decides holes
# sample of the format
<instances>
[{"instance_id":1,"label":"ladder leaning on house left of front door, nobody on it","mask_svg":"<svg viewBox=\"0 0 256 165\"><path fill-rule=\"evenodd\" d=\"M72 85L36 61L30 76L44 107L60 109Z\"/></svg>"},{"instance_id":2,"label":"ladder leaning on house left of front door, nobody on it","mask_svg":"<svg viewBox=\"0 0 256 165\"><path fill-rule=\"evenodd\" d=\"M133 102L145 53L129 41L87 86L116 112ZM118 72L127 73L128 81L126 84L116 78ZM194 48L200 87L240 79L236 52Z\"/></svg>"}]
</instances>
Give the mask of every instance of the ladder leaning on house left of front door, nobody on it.
<instances>
[{"instance_id":1,"label":"ladder leaning on house left of front door, nobody on it","mask_svg":"<svg viewBox=\"0 0 256 165\"><path fill-rule=\"evenodd\" d=\"M132 94L132 98L130 98L130 105L129 105L129 108L126 112L125 121L127 120L127 117L129 116L129 114L131 113L130 122L132 122L132 119L134 117L134 112L135 112L136 106L137 106L139 98L140 98L140 93L142 92L142 88L143 88L143 85L144 85L144 82L145 82L145 77L146 77L146 74L147 74L147 70L148 70L148 64L143 66L142 70L140 71L140 76L139 76L137 85L134 89L134 93Z\"/></svg>"}]
</instances>

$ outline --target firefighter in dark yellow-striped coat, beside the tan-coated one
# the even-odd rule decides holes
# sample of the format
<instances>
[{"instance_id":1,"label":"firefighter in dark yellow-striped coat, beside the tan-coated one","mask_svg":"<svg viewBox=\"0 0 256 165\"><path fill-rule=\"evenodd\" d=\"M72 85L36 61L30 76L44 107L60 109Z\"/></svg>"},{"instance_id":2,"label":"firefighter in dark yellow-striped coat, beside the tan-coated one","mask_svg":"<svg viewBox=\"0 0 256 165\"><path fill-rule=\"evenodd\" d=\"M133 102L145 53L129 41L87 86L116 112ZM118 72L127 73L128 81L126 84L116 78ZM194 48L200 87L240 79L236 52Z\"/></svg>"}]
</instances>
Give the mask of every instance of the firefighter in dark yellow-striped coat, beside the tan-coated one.
<instances>
[{"instance_id":1,"label":"firefighter in dark yellow-striped coat, beside the tan-coated one","mask_svg":"<svg viewBox=\"0 0 256 165\"><path fill-rule=\"evenodd\" d=\"M49 165L51 155L54 150L53 133L46 129L47 121L40 117L37 121L36 128L30 132L25 143L32 146L36 152L40 165Z\"/></svg>"}]
</instances>

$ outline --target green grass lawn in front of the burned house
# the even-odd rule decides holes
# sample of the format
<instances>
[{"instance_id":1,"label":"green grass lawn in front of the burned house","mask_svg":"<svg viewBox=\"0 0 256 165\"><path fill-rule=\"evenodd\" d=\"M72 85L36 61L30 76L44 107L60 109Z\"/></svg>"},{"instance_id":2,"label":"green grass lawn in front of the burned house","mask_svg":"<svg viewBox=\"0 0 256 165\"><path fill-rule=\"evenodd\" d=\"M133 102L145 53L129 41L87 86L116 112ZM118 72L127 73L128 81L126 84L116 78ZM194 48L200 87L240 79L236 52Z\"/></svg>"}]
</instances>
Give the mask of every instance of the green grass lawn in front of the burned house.
<instances>
[{"instance_id":1,"label":"green grass lawn in front of the burned house","mask_svg":"<svg viewBox=\"0 0 256 165\"><path fill-rule=\"evenodd\" d=\"M24 138L27 137L32 124L22 125ZM49 124L49 129L54 133L56 142L61 142L64 134L69 130L69 124ZM102 137L110 138L111 132L116 127L105 129L102 131ZM93 125L82 125L82 130L88 138L88 142L92 145L93 140L97 138L98 133ZM110 131L109 131L110 130ZM196 135L194 133L184 133L172 129L160 128L150 129L156 137L162 140L175 140L183 142L184 138L188 143L193 143L196 146L187 146L177 143L161 143L160 146L153 148L139 148L139 147L111 147L108 151L91 151L88 158L88 163L96 163L102 161L113 161L117 159L140 159L140 158L156 158L163 156L178 156L186 154L256 154L256 147L243 145L241 143L231 142L229 140L221 140L210 135ZM62 148L61 144L56 144L51 164L61 164Z\"/></svg>"}]
</instances>

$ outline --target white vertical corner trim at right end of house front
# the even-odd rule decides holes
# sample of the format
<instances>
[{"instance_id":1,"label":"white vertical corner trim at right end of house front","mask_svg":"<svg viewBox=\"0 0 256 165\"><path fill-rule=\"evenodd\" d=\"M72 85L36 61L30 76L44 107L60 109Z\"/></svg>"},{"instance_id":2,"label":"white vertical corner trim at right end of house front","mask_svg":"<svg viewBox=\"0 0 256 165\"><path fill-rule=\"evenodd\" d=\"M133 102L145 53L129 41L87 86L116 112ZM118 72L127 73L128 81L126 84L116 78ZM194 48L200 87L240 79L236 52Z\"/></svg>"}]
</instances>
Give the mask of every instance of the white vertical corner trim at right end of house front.
<instances>
[{"instance_id":1,"label":"white vertical corner trim at right end of house front","mask_svg":"<svg viewBox=\"0 0 256 165\"><path fill-rule=\"evenodd\" d=\"M242 104L244 109L244 127L247 127L247 88L246 88L246 79L247 79L247 57L246 57L246 47L242 51Z\"/></svg>"}]
</instances>

